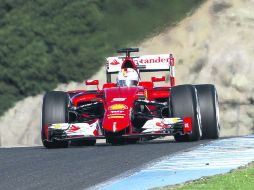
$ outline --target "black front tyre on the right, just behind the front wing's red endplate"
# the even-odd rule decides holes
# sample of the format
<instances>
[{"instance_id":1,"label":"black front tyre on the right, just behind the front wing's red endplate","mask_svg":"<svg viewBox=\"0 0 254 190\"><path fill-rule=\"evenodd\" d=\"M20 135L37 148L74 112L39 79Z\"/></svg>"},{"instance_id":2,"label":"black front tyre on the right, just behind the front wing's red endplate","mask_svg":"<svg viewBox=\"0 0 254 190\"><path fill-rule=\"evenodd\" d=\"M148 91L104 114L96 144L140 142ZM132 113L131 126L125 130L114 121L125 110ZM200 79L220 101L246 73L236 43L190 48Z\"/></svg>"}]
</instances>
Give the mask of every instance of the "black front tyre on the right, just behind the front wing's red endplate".
<instances>
[{"instance_id":1,"label":"black front tyre on the right, just behind the front wing's red endplate","mask_svg":"<svg viewBox=\"0 0 254 190\"><path fill-rule=\"evenodd\" d=\"M169 98L169 113L171 117L192 117L192 133L176 134L177 142L197 141L202 136L201 116L196 89L192 85L172 87Z\"/></svg>"}]
</instances>

